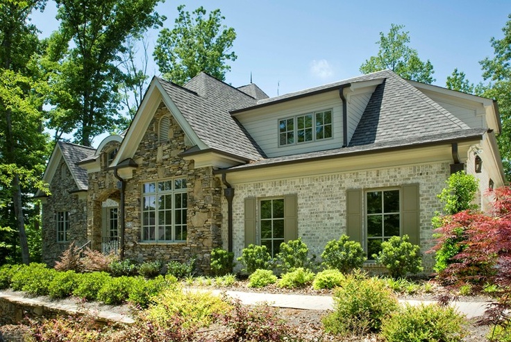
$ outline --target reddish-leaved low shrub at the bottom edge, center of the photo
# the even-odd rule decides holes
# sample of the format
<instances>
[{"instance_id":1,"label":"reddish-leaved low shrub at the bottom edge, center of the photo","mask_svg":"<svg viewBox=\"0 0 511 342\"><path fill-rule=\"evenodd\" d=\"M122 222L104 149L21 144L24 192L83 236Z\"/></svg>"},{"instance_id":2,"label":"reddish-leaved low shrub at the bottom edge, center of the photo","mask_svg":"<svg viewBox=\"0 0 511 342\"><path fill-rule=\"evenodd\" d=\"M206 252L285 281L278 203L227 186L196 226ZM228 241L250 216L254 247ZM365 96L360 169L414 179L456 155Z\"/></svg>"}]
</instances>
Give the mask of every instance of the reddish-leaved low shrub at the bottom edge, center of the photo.
<instances>
[{"instance_id":1,"label":"reddish-leaved low shrub at the bottom edge, center of the photo","mask_svg":"<svg viewBox=\"0 0 511 342\"><path fill-rule=\"evenodd\" d=\"M233 309L224 315L224 323L234 330L233 341L296 341L298 332L285 323L274 307L262 304L253 308L231 302Z\"/></svg>"}]
</instances>

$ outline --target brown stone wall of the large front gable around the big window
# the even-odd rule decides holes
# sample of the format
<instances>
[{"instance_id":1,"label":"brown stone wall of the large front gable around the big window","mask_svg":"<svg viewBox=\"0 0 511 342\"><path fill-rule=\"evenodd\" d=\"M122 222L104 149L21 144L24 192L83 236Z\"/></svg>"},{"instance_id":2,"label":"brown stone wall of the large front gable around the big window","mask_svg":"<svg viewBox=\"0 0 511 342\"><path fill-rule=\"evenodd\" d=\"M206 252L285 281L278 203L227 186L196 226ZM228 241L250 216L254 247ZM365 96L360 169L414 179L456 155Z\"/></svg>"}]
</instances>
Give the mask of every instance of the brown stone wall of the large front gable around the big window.
<instances>
[{"instance_id":1,"label":"brown stone wall of the large front gable around the big window","mask_svg":"<svg viewBox=\"0 0 511 342\"><path fill-rule=\"evenodd\" d=\"M170 114L160 103L144 133L133 160L138 167L126 184L126 257L146 260L187 261L196 255L199 270L208 273L212 248L221 246L221 183L212 168L194 169L193 162L178 157L190 148L185 133L171 118L169 139L158 140L160 118ZM187 180L187 241L152 243L141 241L142 185L151 180Z\"/></svg>"}]
</instances>

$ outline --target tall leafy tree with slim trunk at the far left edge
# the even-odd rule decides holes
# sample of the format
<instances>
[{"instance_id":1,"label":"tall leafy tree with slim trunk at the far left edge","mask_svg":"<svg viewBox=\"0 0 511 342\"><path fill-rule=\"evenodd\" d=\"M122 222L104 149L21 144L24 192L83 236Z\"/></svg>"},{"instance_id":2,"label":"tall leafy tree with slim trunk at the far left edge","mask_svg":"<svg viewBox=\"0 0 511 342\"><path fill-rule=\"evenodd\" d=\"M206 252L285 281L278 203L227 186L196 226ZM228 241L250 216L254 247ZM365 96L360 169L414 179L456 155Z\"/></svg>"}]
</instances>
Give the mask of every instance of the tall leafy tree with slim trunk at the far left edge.
<instances>
[{"instance_id":1,"label":"tall leafy tree with slim trunk at the far left edge","mask_svg":"<svg viewBox=\"0 0 511 342\"><path fill-rule=\"evenodd\" d=\"M0 207L1 224L12 224L19 234L22 261L30 261L25 231L24 192L35 181L37 166L44 162L40 85L34 80L33 54L39 41L35 26L28 24L33 10L45 1L0 1ZM11 215L14 214L11 219ZM3 232L6 232L3 229Z\"/></svg>"}]
</instances>

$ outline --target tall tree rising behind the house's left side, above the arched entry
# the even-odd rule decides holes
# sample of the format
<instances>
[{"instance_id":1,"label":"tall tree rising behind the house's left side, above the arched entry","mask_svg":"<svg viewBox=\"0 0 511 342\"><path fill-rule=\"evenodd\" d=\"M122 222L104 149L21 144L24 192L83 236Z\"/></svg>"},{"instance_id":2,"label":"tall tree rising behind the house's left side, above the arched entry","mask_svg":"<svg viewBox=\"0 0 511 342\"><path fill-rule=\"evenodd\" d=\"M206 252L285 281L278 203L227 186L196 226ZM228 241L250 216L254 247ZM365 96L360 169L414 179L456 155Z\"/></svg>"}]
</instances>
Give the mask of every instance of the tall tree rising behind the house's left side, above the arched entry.
<instances>
[{"instance_id":1,"label":"tall tree rising behind the house's left side, above the arched entry","mask_svg":"<svg viewBox=\"0 0 511 342\"><path fill-rule=\"evenodd\" d=\"M54 56L60 67L51 82L67 94L53 101L61 110L61 130L74 130L79 144L90 146L95 136L115 126L121 102L119 55L129 37L161 26L165 17L154 11L159 2L56 0L60 28L51 44L53 51L60 51Z\"/></svg>"}]
</instances>

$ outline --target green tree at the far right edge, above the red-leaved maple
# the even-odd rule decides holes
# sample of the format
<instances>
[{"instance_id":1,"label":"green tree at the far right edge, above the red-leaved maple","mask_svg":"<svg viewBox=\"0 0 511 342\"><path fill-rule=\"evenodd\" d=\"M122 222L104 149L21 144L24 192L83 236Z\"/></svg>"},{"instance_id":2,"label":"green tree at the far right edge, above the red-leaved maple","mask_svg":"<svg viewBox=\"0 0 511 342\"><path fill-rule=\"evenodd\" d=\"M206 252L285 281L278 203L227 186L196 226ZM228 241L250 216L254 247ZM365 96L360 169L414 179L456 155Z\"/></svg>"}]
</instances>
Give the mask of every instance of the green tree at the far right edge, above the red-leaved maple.
<instances>
[{"instance_id":1,"label":"green tree at the far right edge, above the red-leaved maple","mask_svg":"<svg viewBox=\"0 0 511 342\"><path fill-rule=\"evenodd\" d=\"M501 113L502 132L499 135L499 150L508 181L511 180L511 15L502 28L504 37L490 40L494 49L492 58L480 61L483 78L490 83L485 97L496 99Z\"/></svg>"}]
</instances>

